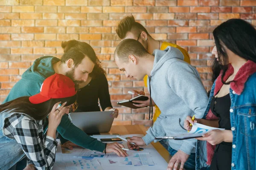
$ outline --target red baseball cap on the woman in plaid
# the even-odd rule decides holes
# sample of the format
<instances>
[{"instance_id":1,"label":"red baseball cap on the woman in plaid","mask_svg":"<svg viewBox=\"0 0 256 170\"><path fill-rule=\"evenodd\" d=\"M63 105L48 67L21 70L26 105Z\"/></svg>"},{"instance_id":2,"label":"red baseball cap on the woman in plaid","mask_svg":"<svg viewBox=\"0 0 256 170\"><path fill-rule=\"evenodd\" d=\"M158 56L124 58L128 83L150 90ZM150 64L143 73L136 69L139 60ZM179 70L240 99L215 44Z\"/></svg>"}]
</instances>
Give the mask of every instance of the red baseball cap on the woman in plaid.
<instances>
[{"instance_id":1,"label":"red baseball cap on the woman in plaid","mask_svg":"<svg viewBox=\"0 0 256 170\"><path fill-rule=\"evenodd\" d=\"M75 83L63 74L53 74L44 80L40 93L29 97L29 101L38 104L49 99L60 99L74 95L76 95Z\"/></svg>"}]
</instances>

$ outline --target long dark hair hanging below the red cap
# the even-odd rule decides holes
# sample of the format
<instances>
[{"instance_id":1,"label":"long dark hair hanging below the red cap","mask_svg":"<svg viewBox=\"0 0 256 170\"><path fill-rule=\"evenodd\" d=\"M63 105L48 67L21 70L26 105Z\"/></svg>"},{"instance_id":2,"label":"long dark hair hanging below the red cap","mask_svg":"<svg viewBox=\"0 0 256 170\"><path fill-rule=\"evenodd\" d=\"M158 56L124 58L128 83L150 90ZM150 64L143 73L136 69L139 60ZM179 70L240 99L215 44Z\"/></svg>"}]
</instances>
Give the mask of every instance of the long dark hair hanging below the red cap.
<instances>
[{"instance_id":1,"label":"long dark hair hanging below the red cap","mask_svg":"<svg viewBox=\"0 0 256 170\"><path fill-rule=\"evenodd\" d=\"M75 101L76 95L67 98L49 99L43 103L32 104L29 102L29 96L25 96L0 105L0 112L12 111L17 113L25 113L35 120L43 120L47 117L47 115L52 110L53 105L55 105L57 102L67 102L65 106L69 106Z\"/></svg>"}]
</instances>

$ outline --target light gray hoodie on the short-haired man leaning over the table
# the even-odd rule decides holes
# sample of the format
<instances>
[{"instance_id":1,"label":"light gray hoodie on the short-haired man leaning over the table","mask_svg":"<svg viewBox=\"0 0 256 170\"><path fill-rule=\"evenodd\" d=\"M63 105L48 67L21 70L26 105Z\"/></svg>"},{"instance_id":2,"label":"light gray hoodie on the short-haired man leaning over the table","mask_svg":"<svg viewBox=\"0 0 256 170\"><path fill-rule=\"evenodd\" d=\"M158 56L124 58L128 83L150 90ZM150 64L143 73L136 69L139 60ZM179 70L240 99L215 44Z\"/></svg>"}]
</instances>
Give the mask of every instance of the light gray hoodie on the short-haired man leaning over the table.
<instances>
[{"instance_id":1,"label":"light gray hoodie on the short-haired man leaning over the table","mask_svg":"<svg viewBox=\"0 0 256 170\"><path fill-rule=\"evenodd\" d=\"M202 118L208 103L198 71L183 61L184 56L177 48L168 46L164 51L155 50L153 55L151 97L161 114L143 137L146 144L156 136L187 133L183 129L186 116L195 114L195 118ZM196 139L169 140L170 147L189 155L195 153L195 144Z\"/></svg>"}]
</instances>

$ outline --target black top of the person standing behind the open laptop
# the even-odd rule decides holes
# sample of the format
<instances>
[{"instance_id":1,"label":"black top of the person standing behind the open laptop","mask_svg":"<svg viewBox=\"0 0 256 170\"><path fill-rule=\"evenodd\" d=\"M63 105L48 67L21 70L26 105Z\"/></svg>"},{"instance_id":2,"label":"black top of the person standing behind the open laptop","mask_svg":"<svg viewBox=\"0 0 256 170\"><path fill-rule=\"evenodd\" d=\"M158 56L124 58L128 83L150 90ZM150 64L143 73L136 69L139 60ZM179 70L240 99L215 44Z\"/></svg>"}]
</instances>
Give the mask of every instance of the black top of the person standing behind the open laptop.
<instances>
[{"instance_id":1,"label":"black top of the person standing behind the open laptop","mask_svg":"<svg viewBox=\"0 0 256 170\"><path fill-rule=\"evenodd\" d=\"M108 80L104 74L93 78L90 83L77 92L78 108L76 112L102 111L111 107L111 100L108 91Z\"/></svg>"}]
</instances>

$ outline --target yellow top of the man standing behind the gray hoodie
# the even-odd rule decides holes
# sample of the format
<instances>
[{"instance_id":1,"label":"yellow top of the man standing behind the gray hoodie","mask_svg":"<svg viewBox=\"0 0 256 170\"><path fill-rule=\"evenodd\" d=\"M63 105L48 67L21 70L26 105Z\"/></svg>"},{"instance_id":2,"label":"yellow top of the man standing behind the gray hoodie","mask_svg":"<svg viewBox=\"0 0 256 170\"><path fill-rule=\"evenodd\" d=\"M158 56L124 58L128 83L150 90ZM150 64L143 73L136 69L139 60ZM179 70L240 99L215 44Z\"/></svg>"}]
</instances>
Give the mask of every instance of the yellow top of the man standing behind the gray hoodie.
<instances>
[{"instance_id":1,"label":"yellow top of the man standing behind the gray hoodie","mask_svg":"<svg viewBox=\"0 0 256 170\"><path fill-rule=\"evenodd\" d=\"M168 47L168 46L178 48L178 49L182 52L182 54L183 54L183 56L184 56L184 61L186 61L187 63L190 64L190 59L189 59L189 54L188 54L188 52L187 52L184 48L180 47L180 46L177 45L177 44L172 44L172 43L170 43L170 42L163 42L162 45L161 45L161 47L160 47L160 50L164 50L164 49L166 49L166 47ZM148 75L145 75L145 77L143 78L145 87L148 87L148 85L147 85L147 79L148 79ZM156 108L156 111L155 111L155 113L154 113L153 122L155 122L155 121L157 120L157 117L158 117L158 116L160 115L160 113L161 113L161 111L160 111L160 109L157 107L157 105L155 105L155 108Z\"/></svg>"}]
</instances>

